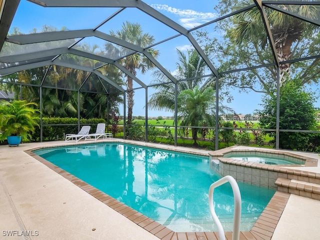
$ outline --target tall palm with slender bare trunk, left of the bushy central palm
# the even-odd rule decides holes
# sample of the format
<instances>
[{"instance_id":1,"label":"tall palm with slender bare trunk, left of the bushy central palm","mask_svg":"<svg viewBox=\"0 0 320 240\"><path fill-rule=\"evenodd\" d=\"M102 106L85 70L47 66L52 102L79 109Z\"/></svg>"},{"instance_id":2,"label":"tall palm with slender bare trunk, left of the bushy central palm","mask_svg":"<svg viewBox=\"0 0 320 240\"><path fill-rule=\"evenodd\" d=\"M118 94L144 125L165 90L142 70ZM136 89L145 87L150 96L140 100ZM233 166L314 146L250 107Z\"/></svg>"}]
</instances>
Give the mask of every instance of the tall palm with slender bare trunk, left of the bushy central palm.
<instances>
[{"instance_id":1,"label":"tall palm with slender bare trunk, left of the bushy central palm","mask_svg":"<svg viewBox=\"0 0 320 240\"><path fill-rule=\"evenodd\" d=\"M148 33L143 33L143 30L138 23L130 23L128 21L122 23L122 29L114 32L113 30L110 31L110 35L125 40L127 42L133 43L140 47L146 47L151 45L154 42L154 37ZM114 55L116 51L115 46L111 43L107 42L105 44L105 50L107 53ZM158 51L152 48L148 49L149 53L156 57L158 55ZM132 52L131 49L122 47L120 49L121 55L127 55ZM136 70L139 69L141 73L144 73L147 69L154 68L154 64L142 53L134 53L127 55L126 57L120 60L120 64L122 64L130 73L136 75ZM126 75L126 84L127 84L127 107L128 107L128 116L127 116L127 123L131 124L132 121L132 108L134 105L133 102L133 82L132 78Z\"/></svg>"}]
</instances>

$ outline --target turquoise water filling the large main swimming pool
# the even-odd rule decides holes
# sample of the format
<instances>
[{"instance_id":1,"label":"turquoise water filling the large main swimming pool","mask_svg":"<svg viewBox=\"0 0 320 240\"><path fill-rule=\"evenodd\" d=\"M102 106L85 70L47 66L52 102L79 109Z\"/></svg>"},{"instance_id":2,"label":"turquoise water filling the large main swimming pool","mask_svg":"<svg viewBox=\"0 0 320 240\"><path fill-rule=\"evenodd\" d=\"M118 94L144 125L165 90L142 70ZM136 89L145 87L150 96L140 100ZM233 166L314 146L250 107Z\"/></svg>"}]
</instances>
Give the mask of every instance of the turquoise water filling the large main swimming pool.
<instances>
[{"instance_id":1,"label":"turquoise water filling the large main swimming pool","mask_svg":"<svg viewBox=\"0 0 320 240\"><path fill-rule=\"evenodd\" d=\"M221 176L209 157L122 143L35 150L34 153L173 231L215 231L208 189ZM241 230L250 230L275 190L239 182ZM214 190L216 213L232 230L233 194L228 183Z\"/></svg>"}]
</instances>

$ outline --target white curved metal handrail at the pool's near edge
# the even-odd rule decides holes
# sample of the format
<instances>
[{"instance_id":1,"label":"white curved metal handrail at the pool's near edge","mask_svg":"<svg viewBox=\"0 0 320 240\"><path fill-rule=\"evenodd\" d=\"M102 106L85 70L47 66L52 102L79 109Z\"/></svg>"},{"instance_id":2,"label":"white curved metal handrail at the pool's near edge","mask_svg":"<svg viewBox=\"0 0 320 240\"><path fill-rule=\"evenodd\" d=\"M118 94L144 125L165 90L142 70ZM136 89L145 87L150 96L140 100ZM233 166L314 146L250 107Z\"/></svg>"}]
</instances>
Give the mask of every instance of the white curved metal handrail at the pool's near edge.
<instances>
[{"instance_id":1,"label":"white curved metal handrail at the pool's near edge","mask_svg":"<svg viewBox=\"0 0 320 240\"><path fill-rule=\"evenodd\" d=\"M215 214L214 205L213 205L213 191L215 187L218 187L226 182L230 182L233 191L234 198L234 213L233 213L233 231L232 231L232 240L238 240L240 236L240 218L241 218L241 195L239 186L236 183L236 180L232 176L223 176L221 179L213 182L209 187L209 209L212 215L212 218L215 224L218 227L219 239L225 240L224 230L219 221L217 215Z\"/></svg>"}]
</instances>

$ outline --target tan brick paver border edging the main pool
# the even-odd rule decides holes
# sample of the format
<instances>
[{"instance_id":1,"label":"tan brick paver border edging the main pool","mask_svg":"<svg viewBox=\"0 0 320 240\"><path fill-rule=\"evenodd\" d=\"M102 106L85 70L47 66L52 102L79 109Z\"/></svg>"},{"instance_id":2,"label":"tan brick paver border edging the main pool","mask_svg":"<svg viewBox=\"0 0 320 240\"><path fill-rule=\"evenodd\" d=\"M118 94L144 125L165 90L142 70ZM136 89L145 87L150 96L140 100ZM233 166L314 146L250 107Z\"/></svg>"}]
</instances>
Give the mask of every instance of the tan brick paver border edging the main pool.
<instances>
[{"instance_id":1,"label":"tan brick paver border edging the main pool","mask_svg":"<svg viewBox=\"0 0 320 240\"><path fill-rule=\"evenodd\" d=\"M90 143L89 143L90 144ZM93 144L93 143L91 143ZM130 143L131 144L131 143ZM78 144L77 144L78 145ZM62 145L59 145L62 146ZM69 145L68 145L69 146ZM55 146L50 146L55 147ZM25 150L27 154L40 161L56 173L60 174L64 178L71 181L73 184L77 185L96 199L100 200L107 206L111 207L118 213L127 217L139 227L144 228L150 233L154 234L163 240L187 240L187 239L203 239L203 240L217 240L219 239L218 232L175 232L171 229L161 225L160 223L152 220L151 218L139 213L133 208L119 202L108 194L100 191L94 186L86 183L85 181L79 179L78 177L72 175L71 173L63 170L62 168L54 165L53 163L45 160L44 158L33 153L34 150L47 147L36 147L32 149ZM161 146L159 146L161 148ZM276 191L273 197L270 199L269 203L264 208L263 212L252 226L250 231L241 231L240 239L271 239L273 231L280 219L283 209L290 194L285 192ZM225 238L231 240L232 232L225 232Z\"/></svg>"}]
</instances>

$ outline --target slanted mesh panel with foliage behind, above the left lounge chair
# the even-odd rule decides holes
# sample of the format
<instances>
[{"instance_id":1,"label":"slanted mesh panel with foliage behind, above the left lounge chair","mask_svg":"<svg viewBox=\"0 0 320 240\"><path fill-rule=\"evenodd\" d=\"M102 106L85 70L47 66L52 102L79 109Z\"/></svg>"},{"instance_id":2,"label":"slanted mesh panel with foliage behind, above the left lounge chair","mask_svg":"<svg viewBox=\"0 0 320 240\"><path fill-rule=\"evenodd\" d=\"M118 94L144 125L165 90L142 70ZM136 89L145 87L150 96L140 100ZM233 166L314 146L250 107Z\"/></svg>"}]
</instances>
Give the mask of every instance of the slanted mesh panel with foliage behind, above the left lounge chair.
<instances>
[{"instance_id":1,"label":"slanted mesh panel with foliage behind, above the left lounge chair","mask_svg":"<svg viewBox=\"0 0 320 240\"><path fill-rule=\"evenodd\" d=\"M59 89L78 90L90 72L51 65L42 86Z\"/></svg>"}]
</instances>

